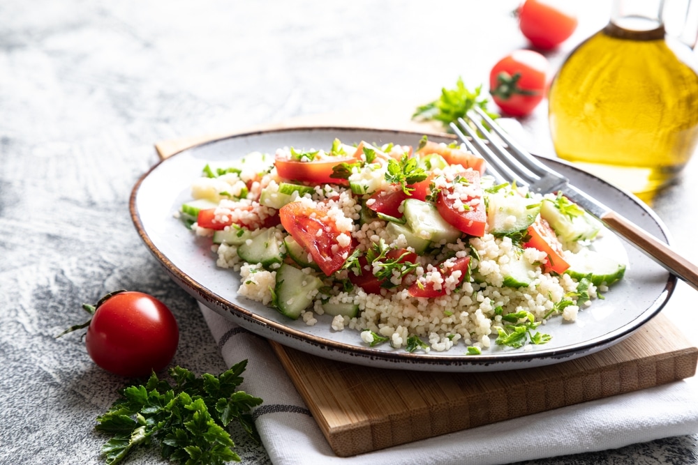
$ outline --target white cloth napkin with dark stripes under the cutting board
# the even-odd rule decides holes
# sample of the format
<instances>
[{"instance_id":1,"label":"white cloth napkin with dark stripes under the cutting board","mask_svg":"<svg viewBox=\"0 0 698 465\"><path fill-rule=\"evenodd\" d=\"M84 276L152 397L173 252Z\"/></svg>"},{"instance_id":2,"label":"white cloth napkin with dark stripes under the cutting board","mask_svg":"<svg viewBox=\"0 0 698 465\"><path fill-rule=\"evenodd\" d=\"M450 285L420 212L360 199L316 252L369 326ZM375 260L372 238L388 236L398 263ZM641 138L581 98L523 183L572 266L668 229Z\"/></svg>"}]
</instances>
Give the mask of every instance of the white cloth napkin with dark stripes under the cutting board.
<instances>
[{"instance_id":1,"label":"white cloth napkin with dark stripes under the cutting board","mask_svg":"<svg viewBox=\"0 0 698 465\"><path fill-rule=\"evenodd\" d=\"M337 457L268 342L200 307L225 363L248 360L242 388L264 401L253 415L276 465L507 464L698 432L698 383L691 380Z\"/></svg>"}]
</instances>

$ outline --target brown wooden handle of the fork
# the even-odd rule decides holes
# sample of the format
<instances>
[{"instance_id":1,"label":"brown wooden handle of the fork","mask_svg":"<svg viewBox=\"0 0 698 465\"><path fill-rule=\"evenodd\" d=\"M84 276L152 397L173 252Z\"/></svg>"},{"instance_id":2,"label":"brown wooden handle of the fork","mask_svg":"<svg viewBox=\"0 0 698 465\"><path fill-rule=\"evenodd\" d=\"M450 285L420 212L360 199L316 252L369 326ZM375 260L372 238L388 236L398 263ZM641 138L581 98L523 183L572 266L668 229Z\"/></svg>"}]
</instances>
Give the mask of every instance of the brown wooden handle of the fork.
<instances>
[{"instance_id":1,"label":"brown wooden handle of the fork","mask_svg":"<svg viewBox=\"0 0 698 465\"><path fill-rule=\"evenodd\" d=\"M693 289L698 290L698 266L681 257L676 250L614 211L604 213L600 220L607 227L637 245L639 250L658 264L688 282Z\"/></svg>"}]
</instances>

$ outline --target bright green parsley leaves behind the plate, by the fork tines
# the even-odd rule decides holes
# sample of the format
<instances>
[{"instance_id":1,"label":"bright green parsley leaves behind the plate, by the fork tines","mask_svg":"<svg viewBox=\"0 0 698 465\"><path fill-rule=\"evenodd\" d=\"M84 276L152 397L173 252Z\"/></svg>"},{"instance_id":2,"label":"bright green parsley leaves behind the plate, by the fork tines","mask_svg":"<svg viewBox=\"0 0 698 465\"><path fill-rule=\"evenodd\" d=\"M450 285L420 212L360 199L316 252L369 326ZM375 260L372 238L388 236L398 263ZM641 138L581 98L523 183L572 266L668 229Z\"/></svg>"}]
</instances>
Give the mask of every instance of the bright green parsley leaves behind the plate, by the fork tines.
<instances>
[{"instance_id":1,"label":"bright green parsley leaves behind the plate, by the fork tines","mask_svg":"<svg viewBox=\"0 0 698 465\"><path fill-rule=\"evenodd\" d=\"M440 121L444 128L450 131L450 123L463 118L470 109L477 106L487 112L487 98L481 98L481 92L482 85L470 91L463 83L463 78L459 77L454 89L444 87L441 89L441 96L438 99L417 107L412 117L422 121ZM498 116L487 113L492 118Z\"/></svg>"}]
</instances>

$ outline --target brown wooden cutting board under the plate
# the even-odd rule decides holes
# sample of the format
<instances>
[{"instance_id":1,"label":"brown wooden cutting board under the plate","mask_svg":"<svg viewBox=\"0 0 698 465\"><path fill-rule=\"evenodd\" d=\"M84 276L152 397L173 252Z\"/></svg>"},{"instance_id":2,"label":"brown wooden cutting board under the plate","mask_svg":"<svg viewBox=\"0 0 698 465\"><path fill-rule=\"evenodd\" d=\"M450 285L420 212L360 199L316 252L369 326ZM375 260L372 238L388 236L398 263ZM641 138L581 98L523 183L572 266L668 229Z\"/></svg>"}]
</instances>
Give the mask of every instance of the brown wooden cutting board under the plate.
<instances>
[{"instance_id":1,"label":"brown wooden cutting board under the plate","mask_svg":"<svg viewBox=\"0 0 698 465\"><path fill-rule=\"evenodd\" d=\"M366 121L366 114L373 120ZM403 114L409 114L407 108ZM357 117L342 113L323 115L321 121L322 125L436 132L416 123L389 121L385 116L378 112L362 112ZM274 128L316 125L317 121L316 117L306 117ZM227 135L186 137L159 142L156 148L167 158ZM376 369L270 344L339 457L678 381L694 376L698 363L698 349L663 314L604 351L547 367L507 372Z\"/></svg>"}]
</instances>

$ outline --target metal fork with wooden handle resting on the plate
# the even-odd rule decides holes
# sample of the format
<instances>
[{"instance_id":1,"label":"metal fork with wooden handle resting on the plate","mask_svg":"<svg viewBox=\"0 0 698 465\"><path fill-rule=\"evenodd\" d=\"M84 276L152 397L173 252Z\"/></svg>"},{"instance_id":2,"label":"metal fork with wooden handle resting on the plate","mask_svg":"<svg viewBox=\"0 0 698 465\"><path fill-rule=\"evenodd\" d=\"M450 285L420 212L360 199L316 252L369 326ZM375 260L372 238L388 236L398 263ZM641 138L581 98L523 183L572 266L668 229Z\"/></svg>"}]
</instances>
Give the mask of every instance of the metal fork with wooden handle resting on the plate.
<instances>
[{"instance_id":1,"label":"metal fork with wooden handle resting on the plate","mask_svg":"<svg viewBox=\"0 0 698 465\"><path fill-rule=\"evenodd\" d=\"M598 218L609 229L623 236L648 257L698 290L698 266L681 257L676 250L623 215L575 188L565 176L547 167L514 142L482 109L476 107L475 111L471 110L466 117L477 131L462 118L458 120L457 125L451 123L451 128L470 151L480 153L487 160L489 174L497 178L498 182L516 181L518 185L527 185L529 190L541 194L563 192L565 197ZM483 123L506 144L508 150ZM489 144L485 143L486 140Z\"/></svg>"}]
</instances>

